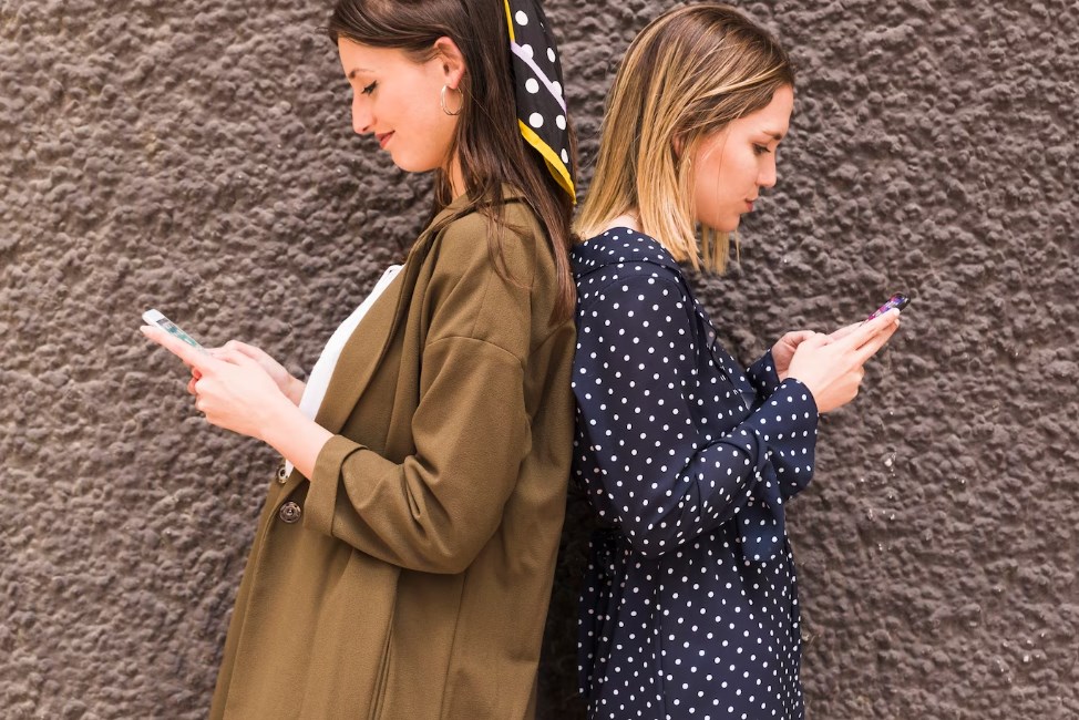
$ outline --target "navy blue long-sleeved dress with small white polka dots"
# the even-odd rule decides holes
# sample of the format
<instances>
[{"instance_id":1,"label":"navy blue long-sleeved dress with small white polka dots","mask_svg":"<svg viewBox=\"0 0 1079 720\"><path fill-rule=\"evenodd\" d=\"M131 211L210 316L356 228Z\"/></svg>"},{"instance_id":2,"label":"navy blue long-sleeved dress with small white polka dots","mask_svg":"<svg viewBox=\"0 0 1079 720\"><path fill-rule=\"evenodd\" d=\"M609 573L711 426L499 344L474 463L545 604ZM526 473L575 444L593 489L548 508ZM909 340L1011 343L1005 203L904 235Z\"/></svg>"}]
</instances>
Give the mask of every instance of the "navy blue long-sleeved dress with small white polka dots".
<instances>
[{"instance_id":1,"label":"navy blue long-sleeved dress with small white polka dots","mask_svg":"<svg viewBox=\"0 0 1079 720\"><path fill-rule=\"evenodd\" d=\"M602 526L580 604L589 718L802 718L783 503L818 412L765 353L743 371L671 256L616 228L573 251L574 476Z\"/></svg>"}]
</instances>

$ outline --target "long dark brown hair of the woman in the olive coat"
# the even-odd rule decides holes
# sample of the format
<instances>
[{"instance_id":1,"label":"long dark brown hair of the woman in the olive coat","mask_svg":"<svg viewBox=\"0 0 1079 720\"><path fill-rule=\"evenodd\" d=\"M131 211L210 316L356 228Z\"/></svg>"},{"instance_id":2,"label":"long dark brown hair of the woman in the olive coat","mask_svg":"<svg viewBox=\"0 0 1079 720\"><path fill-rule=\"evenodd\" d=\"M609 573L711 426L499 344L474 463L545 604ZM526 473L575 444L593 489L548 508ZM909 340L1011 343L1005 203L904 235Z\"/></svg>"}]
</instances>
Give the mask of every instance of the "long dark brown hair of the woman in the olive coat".
<instances>
[{"instance_id":1,"label":"long dark brown hair of the woman in the olive coat","mask_svg":"<svg viewBox=\"0 0 1079 720\"><path fill-rule=\"evenodd\" d=\"M347 38L372 48L400 49L417 62L433 56L439 38L453 40L465 63L459 88L461 117L450 147L451 156L456 153L460 160L470 200L460 215L480 212L487 217L491 258L506 277L502 244L511 228L503 216L503 184L520 191L554 251L558 296L552 320L571 318L576 302L569 268L574 200L518 132L504 0L338 0L327 34L335 43ZM572 124L569 152L576 155ZM435 171L434 213L452 199L449 176Z\"/></svg>"}]
</instances>

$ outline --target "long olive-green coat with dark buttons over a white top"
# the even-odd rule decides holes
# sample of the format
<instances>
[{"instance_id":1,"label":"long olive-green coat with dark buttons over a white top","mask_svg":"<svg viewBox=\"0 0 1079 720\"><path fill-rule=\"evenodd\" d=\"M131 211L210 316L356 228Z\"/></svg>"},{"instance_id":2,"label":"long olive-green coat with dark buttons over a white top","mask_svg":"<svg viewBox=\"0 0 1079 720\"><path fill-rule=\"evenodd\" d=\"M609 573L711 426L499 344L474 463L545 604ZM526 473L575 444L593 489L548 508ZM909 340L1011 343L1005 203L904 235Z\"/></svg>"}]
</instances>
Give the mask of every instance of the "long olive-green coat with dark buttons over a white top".
<instances>
[{"instance_id":1,"label":"long olive-green coat with dark buttons over a white top","mask_svg":"<svg viewBox=\"0 0 1079 720\"><path fill-rule=\"evenodd\" d=\"M549 322L535 217L514 200L506 217L512 280L464 215L420 237L346 346L314 477L270 483L212 718L534 714L575 336Z\"/></svg>"}]
</instances>

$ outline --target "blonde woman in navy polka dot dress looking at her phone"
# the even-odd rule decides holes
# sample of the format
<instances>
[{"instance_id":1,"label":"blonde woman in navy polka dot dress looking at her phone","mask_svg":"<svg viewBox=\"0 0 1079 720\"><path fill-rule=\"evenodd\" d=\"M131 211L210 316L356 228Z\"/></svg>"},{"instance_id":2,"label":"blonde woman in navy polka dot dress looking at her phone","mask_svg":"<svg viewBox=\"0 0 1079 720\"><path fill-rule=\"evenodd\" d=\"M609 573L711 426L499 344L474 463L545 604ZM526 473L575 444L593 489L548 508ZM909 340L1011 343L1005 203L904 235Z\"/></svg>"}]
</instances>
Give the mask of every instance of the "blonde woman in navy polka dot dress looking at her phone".
<instances>
[{"instance_id":1,"label":"blonde woman in navy polka dot dress looking at her phone","mask_svg":"<svg viewBox=\"0 0 1079 720\"><path fill-rule=\"evenodd\" d=\"M638 35L609 95L572 255L574 477L600 525L580 618L590 718L803 716L783 505L813 474L819 413L854 398L898 313L789 332L746 371L684 271L722 270L775 184L793 86L768 32L697 4Z\"/></svg>"}]
</instances>

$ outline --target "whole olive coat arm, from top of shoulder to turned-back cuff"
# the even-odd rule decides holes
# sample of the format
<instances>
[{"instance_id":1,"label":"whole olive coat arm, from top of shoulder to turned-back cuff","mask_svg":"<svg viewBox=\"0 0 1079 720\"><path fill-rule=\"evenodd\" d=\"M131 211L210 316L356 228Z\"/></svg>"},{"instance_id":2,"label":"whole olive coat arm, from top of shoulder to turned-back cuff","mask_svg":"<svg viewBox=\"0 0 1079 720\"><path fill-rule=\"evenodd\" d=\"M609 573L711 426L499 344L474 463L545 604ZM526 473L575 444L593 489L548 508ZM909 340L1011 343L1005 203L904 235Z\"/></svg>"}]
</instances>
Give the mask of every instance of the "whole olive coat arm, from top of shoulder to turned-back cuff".
<instances>
[{"instance_id":1,"label":"whole olive coat arm, from top of shoulder to turned-back cuff","mask_svg":"<svg viewBox=\"0 0 1079 720\"><path fill-rule=\"evenodd\" d=\"M461 573L502 522L530 419L524 367L531 330L527 254L503 279L477 228L439 244L423 313L414 452L401 463L343 436L316 462L307 526L409 569ZM520 249L520 248L518 248ZM523 281L522 281L523 280Z\"/></svg>"}]
</instances>

